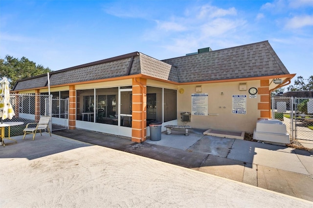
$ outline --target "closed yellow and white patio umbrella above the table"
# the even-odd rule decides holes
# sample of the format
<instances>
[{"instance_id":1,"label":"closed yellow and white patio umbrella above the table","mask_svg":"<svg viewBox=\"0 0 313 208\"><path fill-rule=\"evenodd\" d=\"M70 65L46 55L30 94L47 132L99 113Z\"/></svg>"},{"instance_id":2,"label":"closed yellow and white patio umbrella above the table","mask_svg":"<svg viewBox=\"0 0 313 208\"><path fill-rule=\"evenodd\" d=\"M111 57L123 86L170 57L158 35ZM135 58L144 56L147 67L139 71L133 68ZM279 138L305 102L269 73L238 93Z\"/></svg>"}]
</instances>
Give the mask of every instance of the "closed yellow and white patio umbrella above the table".
<instances>
[{"instance_id":1,"label":"closed yellow and white patio umbrella above the table","mask_svg":"<svg viewBox=\"0 0 313 208\"><path fill-rule=\"evenodd\" d=\"M15 116L13 107L10 103L9 81L3 77L0 81L0 118L12 119Z\"/></svg>"}]
</instances>

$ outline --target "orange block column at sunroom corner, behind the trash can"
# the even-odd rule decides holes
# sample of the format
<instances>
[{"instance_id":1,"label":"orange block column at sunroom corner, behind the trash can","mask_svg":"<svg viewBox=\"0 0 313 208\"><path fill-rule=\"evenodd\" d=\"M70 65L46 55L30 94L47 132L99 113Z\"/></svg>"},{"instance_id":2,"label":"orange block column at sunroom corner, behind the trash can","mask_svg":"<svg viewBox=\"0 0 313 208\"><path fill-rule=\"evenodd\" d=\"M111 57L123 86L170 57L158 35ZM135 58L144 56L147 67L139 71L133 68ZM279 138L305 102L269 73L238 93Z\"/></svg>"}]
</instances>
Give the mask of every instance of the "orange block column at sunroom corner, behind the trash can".
<instances>
[{"instance_id":1,"label":"orange block column at sunroom corner, behind the trash can","mask_svg":"<svg viewBox=\"0 0 313 208\"><path fill-rule=\"evenodd\" d=\"M133 79L133 104L132 104L132 141L146 141L147 120L147 80L142 78Z\"/></svg>"}]
</instances>

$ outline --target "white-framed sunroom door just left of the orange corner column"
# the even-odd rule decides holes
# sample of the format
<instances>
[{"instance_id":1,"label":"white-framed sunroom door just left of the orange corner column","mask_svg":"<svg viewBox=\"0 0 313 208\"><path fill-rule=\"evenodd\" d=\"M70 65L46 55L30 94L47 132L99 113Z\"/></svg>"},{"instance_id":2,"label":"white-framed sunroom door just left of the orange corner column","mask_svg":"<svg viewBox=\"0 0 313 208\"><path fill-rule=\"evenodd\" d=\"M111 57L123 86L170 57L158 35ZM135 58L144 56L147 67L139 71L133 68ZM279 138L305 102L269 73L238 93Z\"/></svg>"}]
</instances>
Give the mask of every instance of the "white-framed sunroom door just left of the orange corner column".
<instances>
[{"instance_id":1,"label":"white-framed sunroom door just left of the orange corner column","mask_svg":"<svg viewBox=\"0 0 313 208\"><path fill-rule=\"evenodd\" d=\"M120 88L118 93L118 126L119 134L132 137L132 88Z\"/></svg>"}]
</instances>

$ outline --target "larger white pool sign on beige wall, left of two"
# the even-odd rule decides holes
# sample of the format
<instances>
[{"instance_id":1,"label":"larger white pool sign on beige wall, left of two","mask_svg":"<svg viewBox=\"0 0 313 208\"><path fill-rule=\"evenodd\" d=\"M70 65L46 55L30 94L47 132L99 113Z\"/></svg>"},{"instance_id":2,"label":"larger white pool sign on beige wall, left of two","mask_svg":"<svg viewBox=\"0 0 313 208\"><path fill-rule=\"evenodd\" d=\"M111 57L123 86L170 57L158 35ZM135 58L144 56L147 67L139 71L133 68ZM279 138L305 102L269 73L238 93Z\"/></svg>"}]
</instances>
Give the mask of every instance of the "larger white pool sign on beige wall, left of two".
<instances>
[{"instance_id":1,"label":"larger white pool sign on beige wall, left of two","mask_svg":"<svg viewBox=\"0 0 313 208\"><path fill-rule=\"evenodd\" d=\"M208 115L208 94L198 93L191 94L191 115L207 116Z\"/></svg>"}]
</instances>

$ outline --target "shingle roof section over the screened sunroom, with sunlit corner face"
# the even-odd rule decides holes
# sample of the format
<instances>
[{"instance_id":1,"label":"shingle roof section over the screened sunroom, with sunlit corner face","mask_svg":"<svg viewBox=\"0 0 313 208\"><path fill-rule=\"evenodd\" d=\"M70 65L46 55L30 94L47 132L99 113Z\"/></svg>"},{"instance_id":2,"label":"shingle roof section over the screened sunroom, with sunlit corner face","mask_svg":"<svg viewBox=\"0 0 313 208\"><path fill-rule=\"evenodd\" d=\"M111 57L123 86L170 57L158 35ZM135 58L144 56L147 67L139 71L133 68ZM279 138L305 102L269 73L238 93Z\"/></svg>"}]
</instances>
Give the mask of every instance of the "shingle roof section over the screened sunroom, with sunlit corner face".
<instances>
[{"instance_id":1,"label":"shingle roof section over the screened sunroom, with sunlit corner face","mask_svg":"<svg viewBox=\"0 0 313 208\"><path fill-rule=\"evenodd\" d=\"M84 64L51 72L50 86L135 74L144 74L162 80L178 82L175 67L145 54L134 52L129 56L122 56L121 59L102 60L94 62L94 64ZM13 90L45 87L47 82L47 75L27 78L19 81Z\"/></svg>"}]
</instances>

